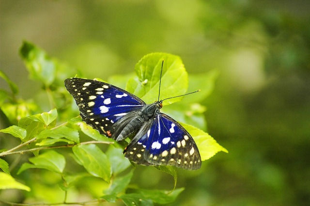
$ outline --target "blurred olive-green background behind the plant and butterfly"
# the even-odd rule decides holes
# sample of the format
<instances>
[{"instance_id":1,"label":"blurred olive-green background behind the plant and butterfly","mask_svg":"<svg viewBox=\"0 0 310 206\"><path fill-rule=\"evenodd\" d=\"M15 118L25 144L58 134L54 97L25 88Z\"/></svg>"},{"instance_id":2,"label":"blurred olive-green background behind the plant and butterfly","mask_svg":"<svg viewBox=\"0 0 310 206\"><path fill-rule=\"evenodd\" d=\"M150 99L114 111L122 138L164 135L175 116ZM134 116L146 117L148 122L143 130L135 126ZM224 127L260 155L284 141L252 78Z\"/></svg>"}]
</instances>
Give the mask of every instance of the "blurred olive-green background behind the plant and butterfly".
<instances>
[{"instance_id":1,"label":"blurred olive-green background behind the plant and butterfly","mask_svg":"<svg viewBox=\"0 0 310 206\"><path fill-rule=\"evenodd\" d=\"M309 0L0 0L0 69L24 98L41 85L27 78L23 40L88 78L133 72L157 51L190 74L216 69L208 132L229 154L179 170L186 190L171 205L309 206L309 11ZM138 168L133 181L170 189L160 175Z\"/></svg>"}]
</instances>

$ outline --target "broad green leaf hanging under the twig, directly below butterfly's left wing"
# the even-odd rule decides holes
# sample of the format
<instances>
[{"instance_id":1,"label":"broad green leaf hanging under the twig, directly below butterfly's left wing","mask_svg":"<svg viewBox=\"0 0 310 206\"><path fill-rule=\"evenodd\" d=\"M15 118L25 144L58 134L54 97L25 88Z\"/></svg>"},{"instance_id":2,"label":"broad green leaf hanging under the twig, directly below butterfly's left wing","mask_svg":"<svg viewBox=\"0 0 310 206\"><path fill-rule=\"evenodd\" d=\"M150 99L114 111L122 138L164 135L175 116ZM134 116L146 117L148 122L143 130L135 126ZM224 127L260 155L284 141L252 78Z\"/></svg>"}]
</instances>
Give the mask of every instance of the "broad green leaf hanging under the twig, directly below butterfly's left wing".
<instances>
[{"instance_id":1,"label":"broad green leaf hanging under the twig, directly below butterfly's left wing","mask_svg":"<svg viewBox=\"0 0 310 206\"><path fill-rule=\"evenodd\" d=\"M93 176L101 177L106 182L110 181L110 162L99 147L95 144L83 144L74 146L72 150L87 172Z\"/></svg>"}]
</instances>

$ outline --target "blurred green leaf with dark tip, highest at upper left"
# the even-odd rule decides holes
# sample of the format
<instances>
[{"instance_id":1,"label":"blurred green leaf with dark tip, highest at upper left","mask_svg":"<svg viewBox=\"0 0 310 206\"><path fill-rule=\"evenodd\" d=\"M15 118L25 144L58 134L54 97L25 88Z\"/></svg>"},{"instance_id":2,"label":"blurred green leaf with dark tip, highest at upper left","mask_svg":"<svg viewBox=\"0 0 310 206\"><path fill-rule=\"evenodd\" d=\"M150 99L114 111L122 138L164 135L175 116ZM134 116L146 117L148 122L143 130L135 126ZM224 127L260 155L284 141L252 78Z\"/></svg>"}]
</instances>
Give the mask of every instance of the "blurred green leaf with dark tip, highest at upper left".
<instances>
[{"instance_id":1,"label":"blurred green leaf with dark tip, highest at upper left","mask_svg":"<svg viewBox=\"0 0 310 206\"><path fill-rule=\"evenodd\" d=\"M31 79L42 81L46 86L53 83L56 66L44 50L24 41L20 48L20 55L30 73Z\"/></svg>"}]
</instances>

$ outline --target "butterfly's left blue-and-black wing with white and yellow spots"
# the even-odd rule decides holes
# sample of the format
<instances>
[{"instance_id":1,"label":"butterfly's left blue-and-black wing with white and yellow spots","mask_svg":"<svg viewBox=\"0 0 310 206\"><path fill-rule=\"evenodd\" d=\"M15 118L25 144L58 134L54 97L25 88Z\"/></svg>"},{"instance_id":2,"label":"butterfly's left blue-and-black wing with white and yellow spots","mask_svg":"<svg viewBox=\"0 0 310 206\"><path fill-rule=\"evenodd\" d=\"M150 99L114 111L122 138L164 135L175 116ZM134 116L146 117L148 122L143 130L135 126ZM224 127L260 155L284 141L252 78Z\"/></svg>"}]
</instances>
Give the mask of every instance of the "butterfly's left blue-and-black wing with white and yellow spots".
<instances>
[{"instance_id":1,"label":"butterfly's left blue-and-black wing with white and yellow spots","mask_svg":"<svg viewBox=\"0 0 310 206\"><path fill-rule=\"evenodd\" d=\"M101 81L70 78L64 85L76 100L83 121L109 137L114 123L146 105L137 96Z\"/></svg>"}]
</instances>

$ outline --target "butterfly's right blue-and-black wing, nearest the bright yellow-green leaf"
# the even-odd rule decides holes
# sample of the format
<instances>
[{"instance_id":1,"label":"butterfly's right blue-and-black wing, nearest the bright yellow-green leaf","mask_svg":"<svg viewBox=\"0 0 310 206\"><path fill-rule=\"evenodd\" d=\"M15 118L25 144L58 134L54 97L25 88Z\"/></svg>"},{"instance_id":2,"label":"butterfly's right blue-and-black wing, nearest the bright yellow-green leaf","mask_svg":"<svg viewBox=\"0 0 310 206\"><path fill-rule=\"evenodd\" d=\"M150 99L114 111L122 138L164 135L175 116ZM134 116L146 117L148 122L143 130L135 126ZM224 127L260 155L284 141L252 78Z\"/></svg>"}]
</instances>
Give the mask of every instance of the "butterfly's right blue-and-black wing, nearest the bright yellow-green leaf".
<instances>
[{"instance_id":1,"label":"butterfly's right blue-and-black wing, nearest the bright yellow-green leaf","mask_svg":"<svg viewBox=\"0 0 310 206\"><path fill-rule=\"evenodd\" d=\"M146 134L139 136L138 133L124 154L138 164L169 165L186 170L201 167L201 157L193 138L184 127L163 113L155 115Z\"/></svg>"}]
</instances>

